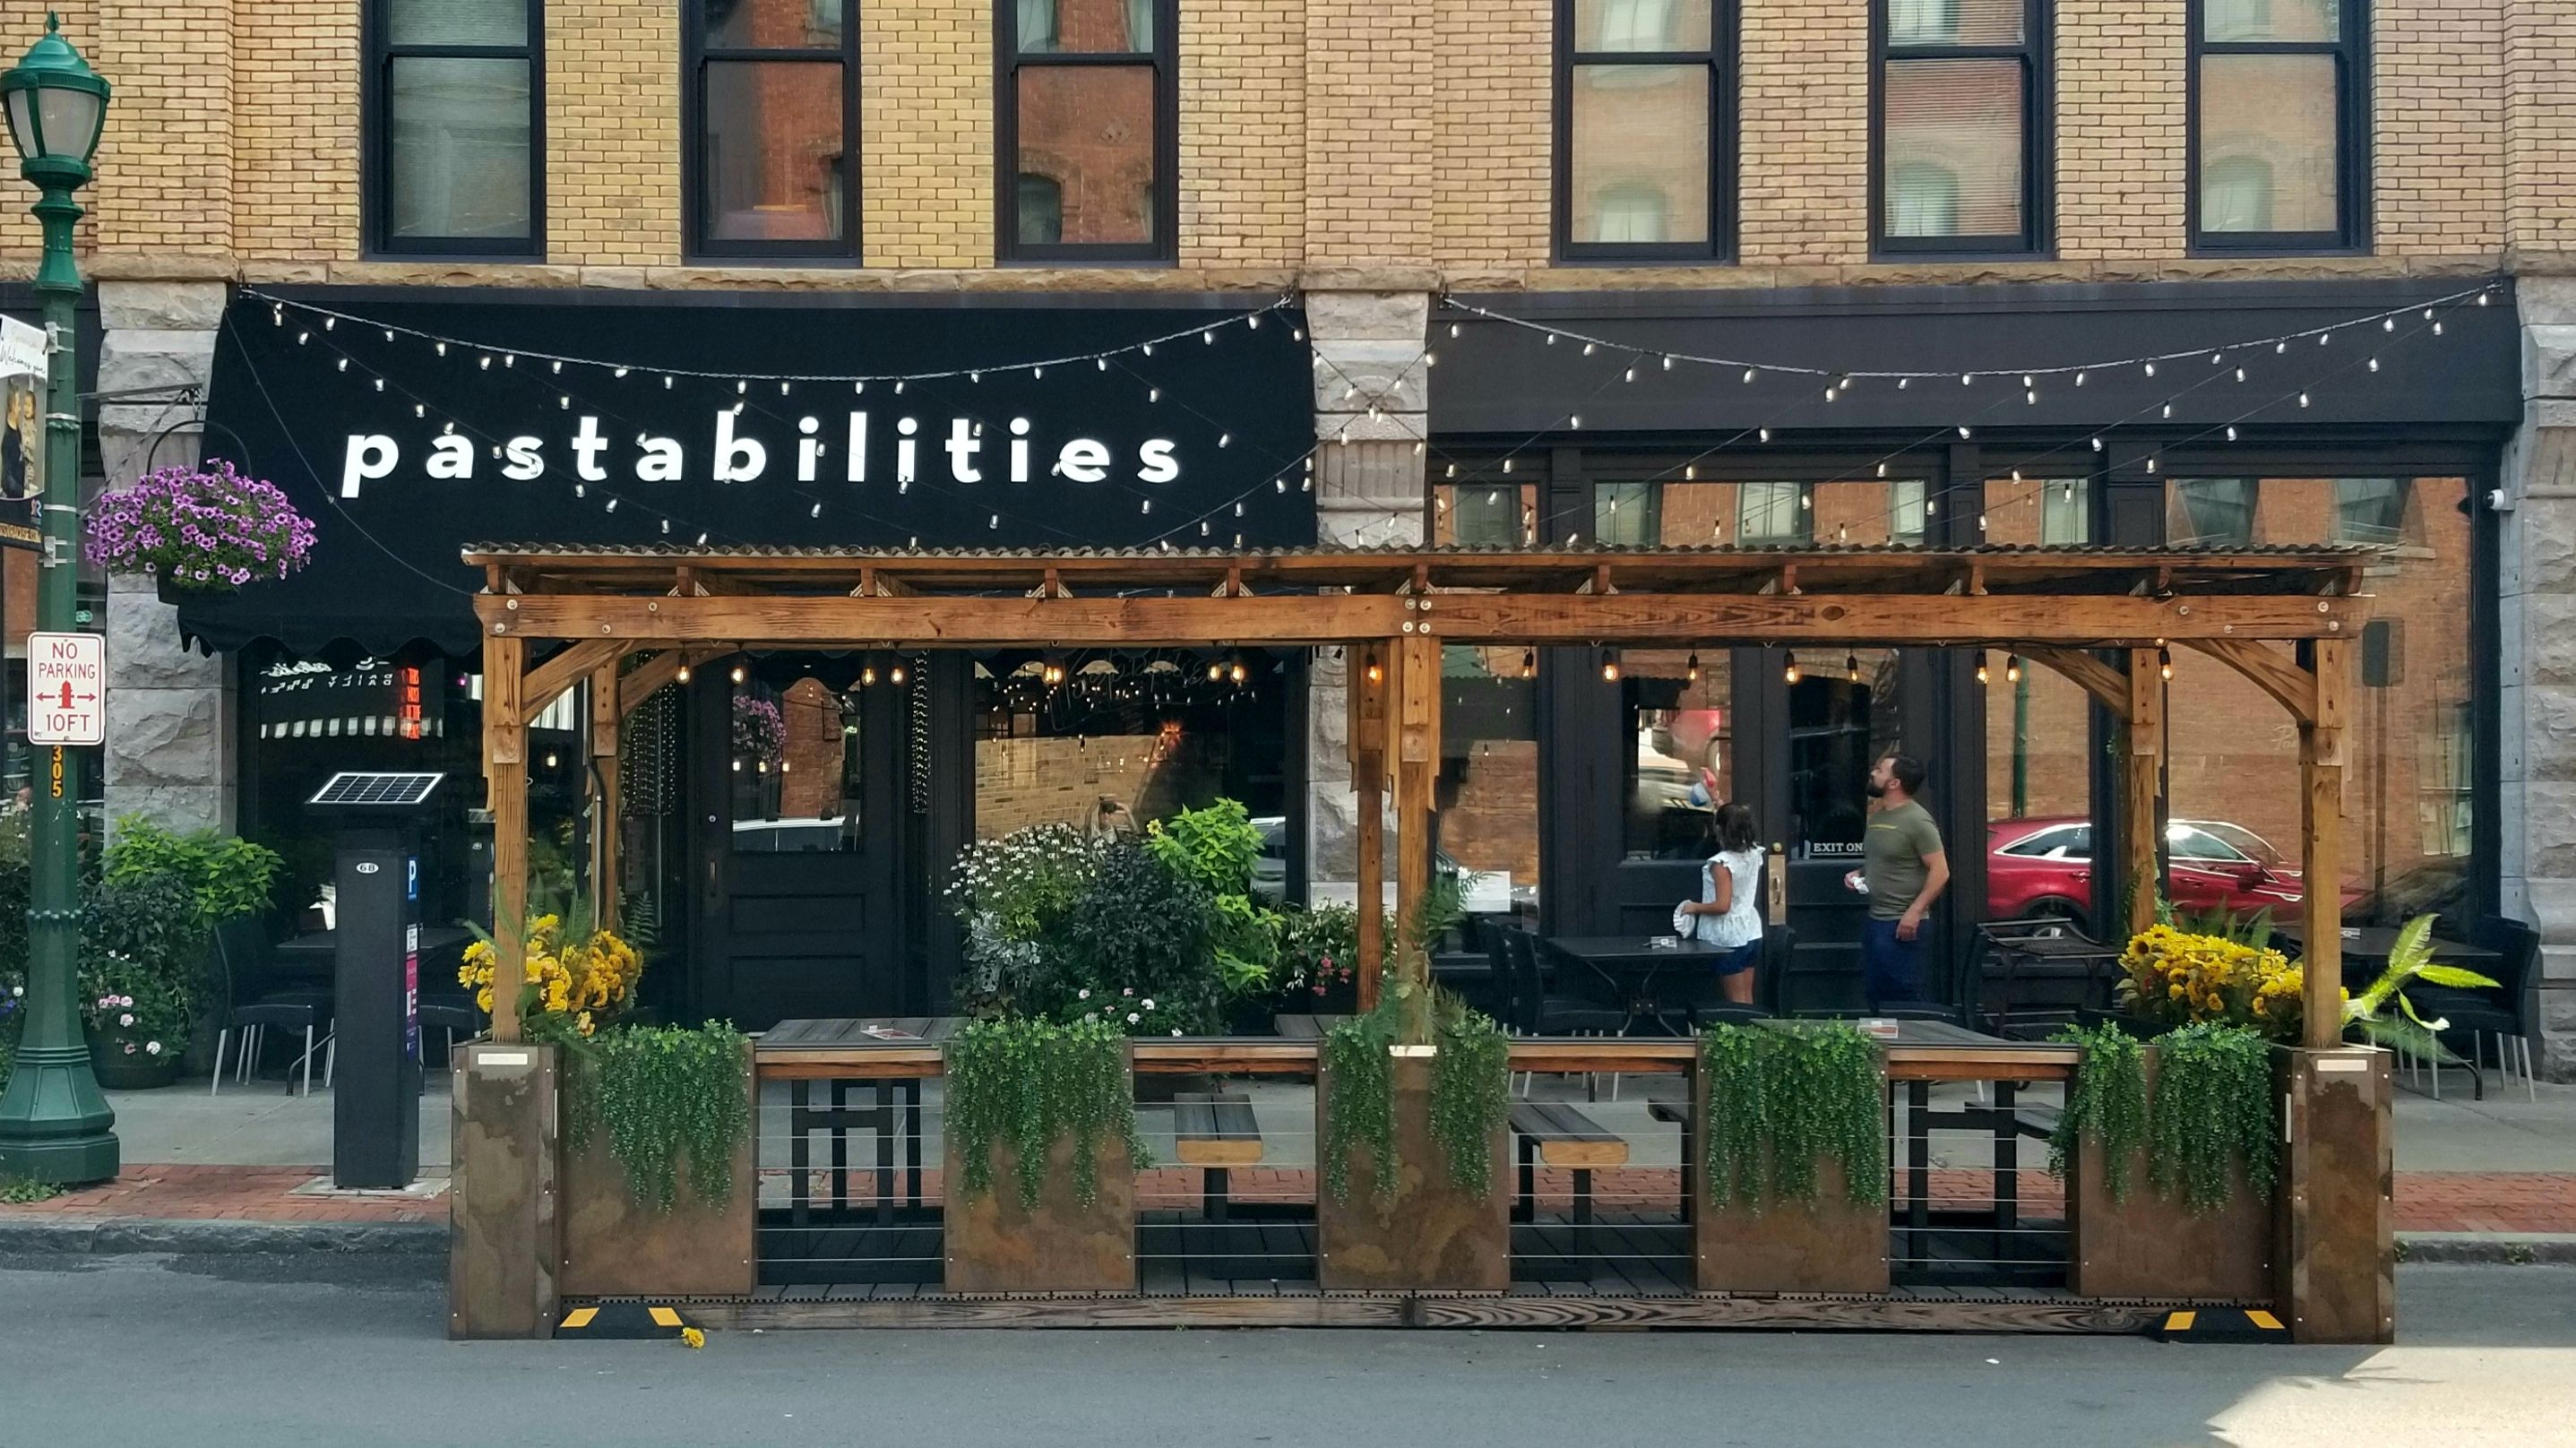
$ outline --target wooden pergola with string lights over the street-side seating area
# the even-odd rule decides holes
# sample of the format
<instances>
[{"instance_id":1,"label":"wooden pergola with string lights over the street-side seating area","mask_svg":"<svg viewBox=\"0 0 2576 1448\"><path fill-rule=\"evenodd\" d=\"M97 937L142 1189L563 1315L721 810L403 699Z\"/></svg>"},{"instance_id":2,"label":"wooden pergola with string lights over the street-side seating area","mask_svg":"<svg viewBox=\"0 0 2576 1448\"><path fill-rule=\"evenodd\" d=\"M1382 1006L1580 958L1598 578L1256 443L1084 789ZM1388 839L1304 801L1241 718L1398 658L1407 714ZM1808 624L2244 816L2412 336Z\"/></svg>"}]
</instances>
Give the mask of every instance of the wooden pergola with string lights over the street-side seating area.
<instances>
[{"instance_id":1,"label":"wooden pergola with string lights over the street-side seating area","mask_svg":"<svg viewBox=\"0 0 2576 1448\"><path fill-rule=\"evenodd\" d=\"M528 721L590 680L590 747L683 665L744 649L1345 647L1358 788L1360 982L1381 940L1383 791L1396 910L1432 879L1440 647L1981 647L2074 680L2123 724L2130 928L2156 899L2164 652L2197 649L2298 721L2308 881L2306 1046L2342 1036L2349 644L2375 549L659 549L482 544L484 773L500 979L523 961ZM636 660L641 654L641 660ZM600 770L616 817L616 770ZM595 881L613 889L616 830ZM1363 995L1363 1002L1368 995ZM497 1041L518 1000L495 992Z\"/></svg>"}]
</instances>

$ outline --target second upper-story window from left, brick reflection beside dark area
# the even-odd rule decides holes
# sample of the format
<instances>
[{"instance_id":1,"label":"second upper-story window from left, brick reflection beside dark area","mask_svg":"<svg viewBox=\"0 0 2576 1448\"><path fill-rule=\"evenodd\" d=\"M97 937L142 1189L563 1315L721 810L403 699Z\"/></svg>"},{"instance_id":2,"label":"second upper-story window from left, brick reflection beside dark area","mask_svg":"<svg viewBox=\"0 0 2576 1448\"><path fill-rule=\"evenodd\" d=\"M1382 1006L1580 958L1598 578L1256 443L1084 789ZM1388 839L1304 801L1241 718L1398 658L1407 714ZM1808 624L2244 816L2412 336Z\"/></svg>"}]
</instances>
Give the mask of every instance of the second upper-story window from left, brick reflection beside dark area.
<instances>
[{"instance_id":1,"label":"second upper-story window from left, brick reflection beside dark area","mask_svg":"<svg viewBox=\"0 0 2576 1448\"><path fill-rule=\"evenodd\" d=\"M688 250L858 258L858 0L688 0Z\"/></svg>"}]
</instances>

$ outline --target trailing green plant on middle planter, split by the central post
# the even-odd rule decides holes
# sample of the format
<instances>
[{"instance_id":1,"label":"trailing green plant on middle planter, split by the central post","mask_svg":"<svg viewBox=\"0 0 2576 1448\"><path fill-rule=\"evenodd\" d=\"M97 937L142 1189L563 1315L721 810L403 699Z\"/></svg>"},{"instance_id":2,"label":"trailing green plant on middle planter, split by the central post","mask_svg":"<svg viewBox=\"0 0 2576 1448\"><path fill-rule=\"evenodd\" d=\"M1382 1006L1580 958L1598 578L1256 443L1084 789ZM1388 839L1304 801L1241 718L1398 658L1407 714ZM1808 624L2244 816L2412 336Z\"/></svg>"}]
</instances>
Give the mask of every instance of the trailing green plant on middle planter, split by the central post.
<instances>
[{"instance_id":1,"label":"trailing green plant on middle planter, split by the central post","mask_svg":"<svg viewBox=\"0 0 2576 1448\"><path fill-rule=\"evenodd\" d=\"M1401 984L1396 989L1404 989ZM1494 1131L1512 1110L1512 1056L1502 1028L1450 995L1427 995L1432 1018L1430 1131L1448 1183L1468 1196L1494 1188ZM1350 1201L1350 1154L1368 1152L1378 1201L1396 1196L1396 1067L1404 1002L1388 992L1376 1010L1324 1033L1321 1062L1332 1077L1324 1103L1324 1190Z\"/></svg>"}]
</instances>

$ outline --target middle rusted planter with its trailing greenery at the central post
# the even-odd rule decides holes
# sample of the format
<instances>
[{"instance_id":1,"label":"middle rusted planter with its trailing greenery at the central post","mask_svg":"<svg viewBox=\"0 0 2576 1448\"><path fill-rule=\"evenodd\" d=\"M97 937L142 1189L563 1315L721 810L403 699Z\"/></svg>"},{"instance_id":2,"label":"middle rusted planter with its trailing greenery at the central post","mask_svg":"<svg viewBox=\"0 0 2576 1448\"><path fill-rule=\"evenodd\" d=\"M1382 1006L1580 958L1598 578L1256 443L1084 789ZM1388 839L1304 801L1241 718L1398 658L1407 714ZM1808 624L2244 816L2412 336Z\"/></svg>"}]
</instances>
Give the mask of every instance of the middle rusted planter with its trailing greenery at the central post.
<instances>
[{"instance_id":1,"label":"middle rusted planter with its trailing greenery at the central post","mask_svg":"<svg viewBox=\"0 0 2576 1448\"><path fill-rule=\"evenodd\" d=\"M1492 1018L1435 997L1430 940L1461 915L1437 879L1386 1000L1324 1033L1316 1069L1316 1278L1334 1291L1512 1283L1504 1121L1512 1059Z\"/></svg>"}]
</instances>

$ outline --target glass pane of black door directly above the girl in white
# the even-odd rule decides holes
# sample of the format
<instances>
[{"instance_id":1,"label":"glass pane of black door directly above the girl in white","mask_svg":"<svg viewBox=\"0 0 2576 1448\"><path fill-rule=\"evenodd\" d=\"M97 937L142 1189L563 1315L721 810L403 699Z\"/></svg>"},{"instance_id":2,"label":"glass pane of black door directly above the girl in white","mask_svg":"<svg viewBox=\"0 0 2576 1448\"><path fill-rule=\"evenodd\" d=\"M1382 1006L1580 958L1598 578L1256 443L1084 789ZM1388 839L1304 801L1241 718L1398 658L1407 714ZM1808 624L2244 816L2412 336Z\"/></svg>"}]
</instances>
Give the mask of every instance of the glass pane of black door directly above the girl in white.
<instances>
[{"instance_id":1,"label":"glass pane of black door directly above the girl in white","mask_svg":"<svg viewBox=\"0 0 2576 1448\"><path fill-rule=\"evenodd\" d=\"M1618 654L1633 747L1620 752L1625 858L1700 861L1710 817L1734 799L1734 670L1728 649ZM1610 688L1605 680L1602 688Z\"/></svg>"}]
</instances>

